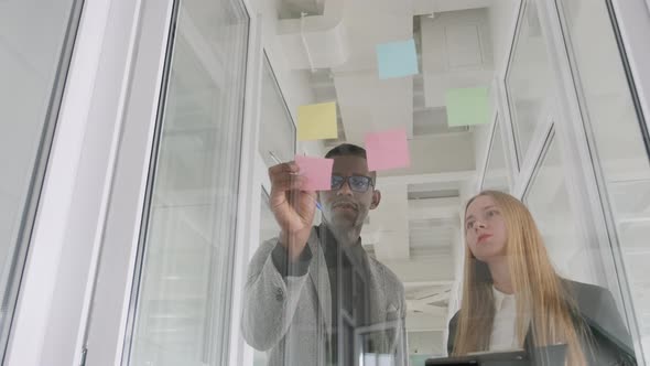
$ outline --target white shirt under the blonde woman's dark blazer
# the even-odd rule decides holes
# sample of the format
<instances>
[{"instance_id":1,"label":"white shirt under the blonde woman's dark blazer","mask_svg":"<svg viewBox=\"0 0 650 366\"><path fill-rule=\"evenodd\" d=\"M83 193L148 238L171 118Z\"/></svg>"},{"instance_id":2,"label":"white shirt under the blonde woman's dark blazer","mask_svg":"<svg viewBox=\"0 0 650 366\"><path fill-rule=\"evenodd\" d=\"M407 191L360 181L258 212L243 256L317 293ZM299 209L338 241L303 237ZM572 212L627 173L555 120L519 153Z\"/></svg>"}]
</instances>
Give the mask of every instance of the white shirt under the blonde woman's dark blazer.
<instances>
[{"instance_id":1,"label":"white shirt under the blonde woman's dark blazer","mask_svg":"<svg viewBox=\"0 0 650 366\"><path fill-rule=\"evenodd\" d=\"M490 351L521 348L517 340L517 301L514 294L507 294L492 286L495 295L495 322L490 336Z\"/></svg>"}]
</instances>

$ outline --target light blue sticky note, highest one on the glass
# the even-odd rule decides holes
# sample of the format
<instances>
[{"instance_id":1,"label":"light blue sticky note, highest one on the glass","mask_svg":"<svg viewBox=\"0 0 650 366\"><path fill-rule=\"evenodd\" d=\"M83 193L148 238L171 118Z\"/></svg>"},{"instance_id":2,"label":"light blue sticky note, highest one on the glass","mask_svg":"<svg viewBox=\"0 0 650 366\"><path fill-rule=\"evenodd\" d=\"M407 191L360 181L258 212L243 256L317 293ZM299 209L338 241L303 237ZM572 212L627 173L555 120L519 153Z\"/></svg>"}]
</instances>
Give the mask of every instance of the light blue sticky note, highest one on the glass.
<instances>
[{"instance_id":1,"label":"light blue sticky note, highest one on the glass","mask_svg":"<svg viewBox=\"0 0 650 366\"><path fill-rule=\"evenodd\" d=\"M418 54L413 39L377 45L379 78L404 77L418 74Z\"/></svg>"}]
</instances>

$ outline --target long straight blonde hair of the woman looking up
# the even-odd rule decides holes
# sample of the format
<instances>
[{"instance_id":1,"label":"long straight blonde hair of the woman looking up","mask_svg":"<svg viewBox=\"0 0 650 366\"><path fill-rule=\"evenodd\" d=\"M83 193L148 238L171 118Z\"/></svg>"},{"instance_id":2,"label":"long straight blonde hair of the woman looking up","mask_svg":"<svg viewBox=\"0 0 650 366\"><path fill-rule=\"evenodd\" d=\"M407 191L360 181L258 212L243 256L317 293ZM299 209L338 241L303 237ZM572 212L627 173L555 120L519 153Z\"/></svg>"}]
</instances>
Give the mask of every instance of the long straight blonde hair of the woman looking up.
<instances>
[{"instance_id":1,"label":"long straight blonde hair of the woman looking up","mask_svg":"<svg viewBox=\"0 0 650 366\"><path fill-rule=\"evenodd\" d=\"M523 345L530 326L534 346L565 343L567 365L586 365L581 346L581 338L587 340L585 326L576 316L577 308L549 260L532 215L519 200L496 191L484 191L469 200L465 213L479 196L495 200L506 220L506 256L517 302L516 336L519 344ZM465 252L463 300L454 355L488 351L495 317L490 271L469 248ZM527 312L530 324L524 315Z\"/></svg>"}]
</instances>

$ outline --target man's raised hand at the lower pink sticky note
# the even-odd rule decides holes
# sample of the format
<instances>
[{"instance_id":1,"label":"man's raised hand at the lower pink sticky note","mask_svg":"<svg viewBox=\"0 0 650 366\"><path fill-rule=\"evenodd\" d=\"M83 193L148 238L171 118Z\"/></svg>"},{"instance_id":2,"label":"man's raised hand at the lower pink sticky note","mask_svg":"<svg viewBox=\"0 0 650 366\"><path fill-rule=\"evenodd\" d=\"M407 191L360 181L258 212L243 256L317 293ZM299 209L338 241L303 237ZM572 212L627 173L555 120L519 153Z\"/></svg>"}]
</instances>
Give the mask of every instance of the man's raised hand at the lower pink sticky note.
<instances>
[{"instance_id":1,"label":"man's raised hand at the lower pink sticky note","mask_svg":"<svg viewBox=\"0 0 650 366\"><path fill-rule=\"evenodd\" d=\"M269 204L282 228L280 244L286 248L292 261L307 245L316 212L316 193L301 191L307 179L299 175L299 170L293 161L269 168Z\"/></svg>"}]
</instances>

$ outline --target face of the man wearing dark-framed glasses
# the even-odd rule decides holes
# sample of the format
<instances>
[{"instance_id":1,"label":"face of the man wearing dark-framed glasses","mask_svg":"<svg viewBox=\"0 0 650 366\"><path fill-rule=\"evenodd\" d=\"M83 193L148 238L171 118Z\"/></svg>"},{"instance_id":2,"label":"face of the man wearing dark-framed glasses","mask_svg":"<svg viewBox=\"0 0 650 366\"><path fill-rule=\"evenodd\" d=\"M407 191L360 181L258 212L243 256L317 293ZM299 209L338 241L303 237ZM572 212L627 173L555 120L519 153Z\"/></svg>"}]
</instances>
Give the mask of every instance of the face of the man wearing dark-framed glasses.
<instances>
[{"instance_id":1,"label":"face of the man wearing dark-framed glasses","mask_svg":"<svg viewBox=\"0 0 650 366\"><path fill-rule=\"evenodd\" d=\"M334 158L332 175L343 176L345 180L340 189L319 193L325 220L334 229L360 228L368 216L368 211L375 209L381 197L379 191L376 191L372 185L375 174L368 171L366 159L343 155ZM355 191L350 186L350 176L372 177L372 184L366 192Z\"/></svg>"}]
</instances>

